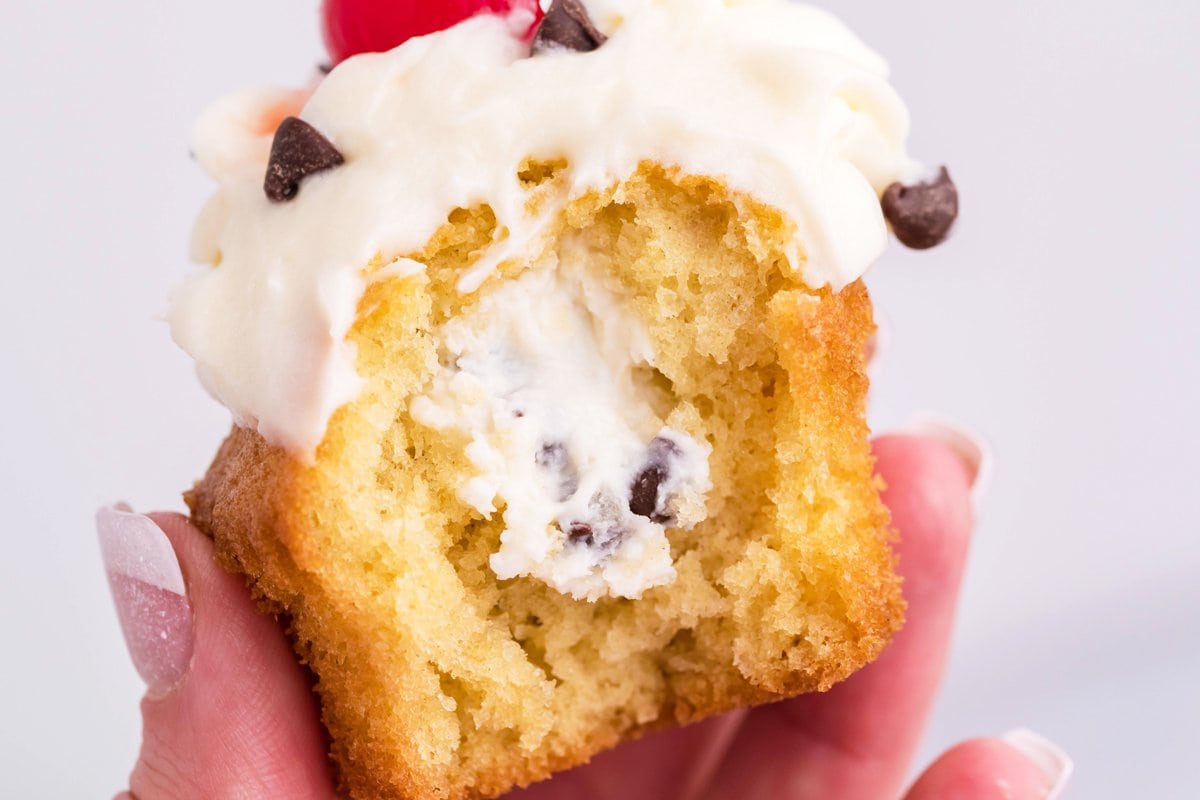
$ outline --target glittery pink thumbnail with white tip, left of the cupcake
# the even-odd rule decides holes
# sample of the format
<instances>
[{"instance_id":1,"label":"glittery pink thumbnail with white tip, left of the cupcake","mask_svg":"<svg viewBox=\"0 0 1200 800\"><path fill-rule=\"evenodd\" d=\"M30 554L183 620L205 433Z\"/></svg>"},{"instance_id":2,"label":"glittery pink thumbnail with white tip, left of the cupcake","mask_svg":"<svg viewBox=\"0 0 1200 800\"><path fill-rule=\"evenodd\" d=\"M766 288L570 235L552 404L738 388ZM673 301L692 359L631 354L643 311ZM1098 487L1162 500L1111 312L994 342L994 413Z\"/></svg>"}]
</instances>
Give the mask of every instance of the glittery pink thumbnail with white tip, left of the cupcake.
<instances>
[{"instance_id":1,"label":"glittery pink thumbnail with white tip, left of the cupcake","mask_svg":"<svg viewBox=\"0 0 1200 800\"><path fill-rule=\"evenodd\" d=\"M146 694L169 694L192 660L192 606L175 548L145 515L119 504L96 512L108 588Z\"/></svg>"}]
</instances>

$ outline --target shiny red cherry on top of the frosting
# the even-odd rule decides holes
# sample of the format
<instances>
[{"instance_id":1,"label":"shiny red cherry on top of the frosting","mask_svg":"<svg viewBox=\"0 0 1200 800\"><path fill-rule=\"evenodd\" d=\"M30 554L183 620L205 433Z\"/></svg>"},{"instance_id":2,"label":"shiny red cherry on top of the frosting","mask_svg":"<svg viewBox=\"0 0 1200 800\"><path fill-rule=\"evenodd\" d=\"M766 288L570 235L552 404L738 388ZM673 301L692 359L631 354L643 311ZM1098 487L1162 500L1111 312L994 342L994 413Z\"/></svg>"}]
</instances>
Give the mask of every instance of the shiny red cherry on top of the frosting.
<instances>
[{"instance_id":1,"label":"shiny red cherry on top of the frosting","mask_svg":"<svg viewBox=\"0 0 1200 800\"><path fill-rule=\"evenodd\" d=\"M338 64L358 53L390 50L475 14L512 8L532 12L534 26L542 16L538 0L325 0L325 46Z\"/></svg>"}]
</instances>

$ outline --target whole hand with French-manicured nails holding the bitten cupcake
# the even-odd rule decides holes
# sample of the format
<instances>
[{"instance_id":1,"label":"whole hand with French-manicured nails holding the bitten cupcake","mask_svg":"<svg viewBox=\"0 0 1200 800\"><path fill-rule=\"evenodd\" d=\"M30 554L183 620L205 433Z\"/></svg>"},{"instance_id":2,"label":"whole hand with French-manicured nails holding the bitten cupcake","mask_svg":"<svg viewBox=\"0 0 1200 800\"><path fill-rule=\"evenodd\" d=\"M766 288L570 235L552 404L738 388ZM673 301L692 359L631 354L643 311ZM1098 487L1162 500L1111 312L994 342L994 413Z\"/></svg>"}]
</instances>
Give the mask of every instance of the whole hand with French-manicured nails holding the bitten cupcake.
<instances>
[{"instance_id":1,"label":"whole hand with French-manicured nails holding the bitten cupcake","mask_svg":"<svg viewBox=\"0 0 1200 800\"><path fill-rule=\"evenodd\" d=\"M940 439L875 443L908 600L907 624L877 662L828 693L650 735L510 798L1057 796L1070 762L1028 732L958 745L902 794L941 679L978 471L970 445L956 453L947 432ZM102 510L97 524L126 642L149 686L132 795L120 796L332 798L310 680L275 621L215 564L211 542L179 515Z\"/></svg>"}]
</instances>

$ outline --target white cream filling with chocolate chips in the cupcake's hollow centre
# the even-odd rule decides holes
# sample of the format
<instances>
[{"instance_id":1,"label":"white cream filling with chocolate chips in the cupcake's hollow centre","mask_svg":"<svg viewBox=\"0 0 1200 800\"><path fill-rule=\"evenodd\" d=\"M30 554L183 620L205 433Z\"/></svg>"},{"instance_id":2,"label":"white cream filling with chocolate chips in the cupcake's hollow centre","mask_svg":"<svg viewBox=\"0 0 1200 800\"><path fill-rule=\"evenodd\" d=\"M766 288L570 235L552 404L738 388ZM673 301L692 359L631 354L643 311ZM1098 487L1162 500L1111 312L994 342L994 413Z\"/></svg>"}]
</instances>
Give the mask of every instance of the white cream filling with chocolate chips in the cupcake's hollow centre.
<instances>
[{"instance_id":1,"label":"white cream filling with chocolate chips in the cupcake's hollow centre","mask_svg":"<svg viewBox=\"0 0 1200 800\"><path fill-rule=\"evenodd\" d=\"M530 575L581 600L638 597L676 573L665 525L631 512L631 485L661 467L662 522L691 527L712 449L650 409L634 372L653 363L649 341L587 277L584 254L550 261L439 331L444 367L409 411L468 443L460 499L485 517L503 504L497 577Z\"/></svg>"}]
</instances>

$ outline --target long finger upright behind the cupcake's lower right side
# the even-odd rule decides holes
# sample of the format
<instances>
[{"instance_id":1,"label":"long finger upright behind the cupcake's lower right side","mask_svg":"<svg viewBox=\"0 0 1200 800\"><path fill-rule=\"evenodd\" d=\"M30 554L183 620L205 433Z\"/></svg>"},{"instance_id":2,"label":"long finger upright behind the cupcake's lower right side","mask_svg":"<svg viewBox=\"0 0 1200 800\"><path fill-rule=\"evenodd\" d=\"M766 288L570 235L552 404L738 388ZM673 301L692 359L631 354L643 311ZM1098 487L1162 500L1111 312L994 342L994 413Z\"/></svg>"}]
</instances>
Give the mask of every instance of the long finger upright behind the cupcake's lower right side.
<instances>
[{"instance_id":1,"label":"long finger upright behind the cupcake's lower right side","mask_svg":"<svg viewBox=\"0 0 1200 800\"><path fill-rule=\"evenodd\" d=\"M980 449L982 452L982 449ZM940 440L875 443L900 539L904 630L880 660L826 694L751 712L710 798L896 796L941 679L972 527L972 463Z\"/></svg>"}]
</instances>

